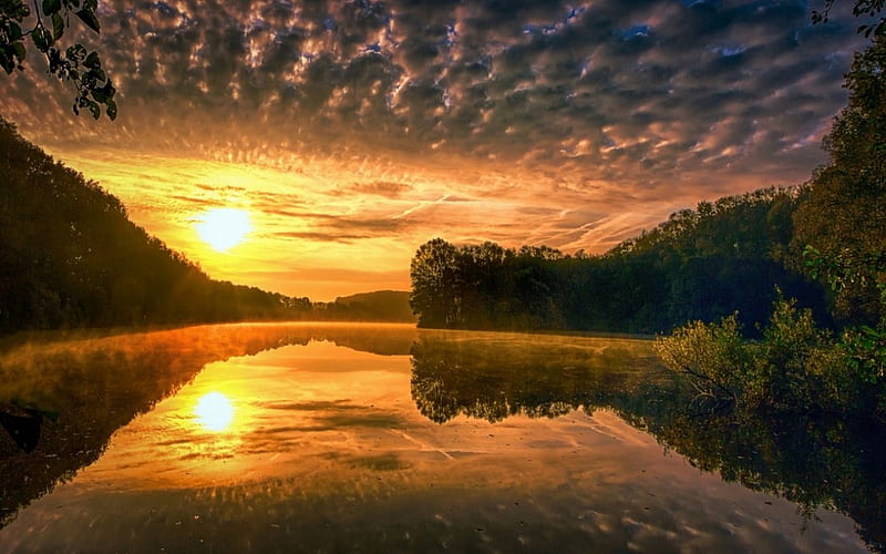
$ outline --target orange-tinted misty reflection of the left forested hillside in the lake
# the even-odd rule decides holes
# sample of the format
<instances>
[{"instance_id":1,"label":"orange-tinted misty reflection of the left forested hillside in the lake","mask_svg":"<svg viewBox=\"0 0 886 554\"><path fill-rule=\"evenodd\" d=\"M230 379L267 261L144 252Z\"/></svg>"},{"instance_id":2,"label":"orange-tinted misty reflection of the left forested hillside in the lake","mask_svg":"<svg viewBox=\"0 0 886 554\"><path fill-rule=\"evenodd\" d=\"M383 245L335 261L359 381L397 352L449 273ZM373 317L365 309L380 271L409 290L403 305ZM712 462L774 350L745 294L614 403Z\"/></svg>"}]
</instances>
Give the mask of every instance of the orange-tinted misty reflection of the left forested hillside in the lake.
<instances>
[{"instance_id":1,"label":"orange-tinted misty reflection of the left forested hillside in the lake","mask_svg":"<svg viewBox=\"0 0 886 554\"><path fill-rule=\"evenodd\" d=\"M7 339L0 352L0 413L8 431L0 432L0 527L21 506L97 460L117 429L177 392L208 363L312 340L405 353L415 330L395 325L226 325L62 337L53 341L44 334L12 345ZM12 419L22 413L35 416L24 422ZM193 413L185 419L192 420Z\"/></svg>"}]
</instances>

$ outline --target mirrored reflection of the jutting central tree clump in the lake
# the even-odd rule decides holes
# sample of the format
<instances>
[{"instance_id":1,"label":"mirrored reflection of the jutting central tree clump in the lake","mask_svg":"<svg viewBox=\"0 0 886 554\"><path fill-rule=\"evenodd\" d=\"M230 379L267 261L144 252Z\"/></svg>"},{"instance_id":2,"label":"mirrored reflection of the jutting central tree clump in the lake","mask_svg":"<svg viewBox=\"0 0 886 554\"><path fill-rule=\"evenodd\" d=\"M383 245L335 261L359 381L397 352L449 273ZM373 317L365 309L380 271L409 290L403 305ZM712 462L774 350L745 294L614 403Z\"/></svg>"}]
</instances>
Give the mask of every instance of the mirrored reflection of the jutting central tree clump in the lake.
<instances>
[{"instance_id":1,"label":"mirrored reflection of the jutting central tree clump in the lake","mask_svg":"<svg viewBox=\"0 0 886 554\"><path fill-rule=\"evenodd\" d=\"M562 337L529 342L509 335L464 337L426 332L412 346L412 398L437 423L457 416L496 422L517 414L556 418L579 407L593 411L649 379L669 379L638 341L584 339L567 346Z\"/></svg>"}]
</instances>

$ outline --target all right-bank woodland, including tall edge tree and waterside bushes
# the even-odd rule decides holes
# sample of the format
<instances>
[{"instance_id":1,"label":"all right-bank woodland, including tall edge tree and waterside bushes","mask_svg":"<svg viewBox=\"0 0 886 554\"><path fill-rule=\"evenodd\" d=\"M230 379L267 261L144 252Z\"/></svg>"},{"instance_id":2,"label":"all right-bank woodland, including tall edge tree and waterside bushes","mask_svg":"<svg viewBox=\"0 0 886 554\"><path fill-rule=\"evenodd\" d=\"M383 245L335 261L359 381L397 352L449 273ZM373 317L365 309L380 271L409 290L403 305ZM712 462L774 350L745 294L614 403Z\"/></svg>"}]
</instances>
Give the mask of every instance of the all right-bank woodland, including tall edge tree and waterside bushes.
<instances>
[{"instance_id":1,"label":"all right-bank woodland, including tall edge tree and waterside bushes","mask_svg":"<svg viewBox=\"0 0 886 554\"><path fill-rule=\"evenodd\" d=\"M886 34L845 88L801 186L702 202L599 256L425 243L419 326L659 334L694 404L886 425Z\"/></svg>"}]
</instances>

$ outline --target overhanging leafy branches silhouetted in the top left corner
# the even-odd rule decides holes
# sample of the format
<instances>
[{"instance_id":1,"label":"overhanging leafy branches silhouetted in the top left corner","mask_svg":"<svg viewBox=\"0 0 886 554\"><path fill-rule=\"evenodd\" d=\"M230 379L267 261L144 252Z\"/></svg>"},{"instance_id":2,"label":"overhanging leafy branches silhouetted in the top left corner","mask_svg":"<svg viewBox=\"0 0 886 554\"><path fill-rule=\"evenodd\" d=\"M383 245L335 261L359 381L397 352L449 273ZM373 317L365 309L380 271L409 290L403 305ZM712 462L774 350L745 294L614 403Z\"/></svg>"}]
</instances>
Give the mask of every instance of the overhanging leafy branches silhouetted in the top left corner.
<instances>
[{"instance_id":1,"label":"overhanging leafy branches silhouetted in the top left corner","mask_svg":"<svg viewBox=\"0 0 886 554\"><path fill-rule=\"evenodd\" d=\"M102 68L95 51L74 43L66 49L60 44L65 30L75 16L89 29L99 33L101 25L95 17L97 0L43 0L33 12L22 0L0 0L0 66L7 74L24 70L27 39L42 53L49 64L48 73L61 81L71 81L76 94L73 111L86 110L94 119L102 114L102 105L111 120L117 116L114 102L116 89ZM22 24L33 24L22 30Z\"/></svg>"}]
</instances>

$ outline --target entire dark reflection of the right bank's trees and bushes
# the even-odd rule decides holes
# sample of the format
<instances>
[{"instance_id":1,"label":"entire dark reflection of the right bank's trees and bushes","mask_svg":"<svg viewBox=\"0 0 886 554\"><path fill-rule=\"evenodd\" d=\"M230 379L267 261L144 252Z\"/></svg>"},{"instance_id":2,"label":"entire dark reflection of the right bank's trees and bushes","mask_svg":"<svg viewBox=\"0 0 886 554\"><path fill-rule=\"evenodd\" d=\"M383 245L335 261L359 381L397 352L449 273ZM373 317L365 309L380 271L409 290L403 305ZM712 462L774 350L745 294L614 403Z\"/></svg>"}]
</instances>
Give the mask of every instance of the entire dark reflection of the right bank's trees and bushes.
<instances>
[{"instance_id":1,"label":"entire dark reflection of the right bank's trees and bushes","mask_svg":"<svg viewBox=\"0 0 886 554\"><path fill-rule=\"evenodd\" d=\"M886 552L886 430L825 414L708 409L629 341L459 339L465 336L423 334L412 348L412 397L430 420L608 408L697 468L795 502L806 521L820 507L845 513L872 550Z\"/></svg>"}]
</instances>

